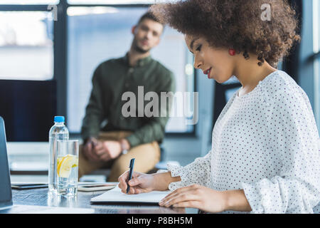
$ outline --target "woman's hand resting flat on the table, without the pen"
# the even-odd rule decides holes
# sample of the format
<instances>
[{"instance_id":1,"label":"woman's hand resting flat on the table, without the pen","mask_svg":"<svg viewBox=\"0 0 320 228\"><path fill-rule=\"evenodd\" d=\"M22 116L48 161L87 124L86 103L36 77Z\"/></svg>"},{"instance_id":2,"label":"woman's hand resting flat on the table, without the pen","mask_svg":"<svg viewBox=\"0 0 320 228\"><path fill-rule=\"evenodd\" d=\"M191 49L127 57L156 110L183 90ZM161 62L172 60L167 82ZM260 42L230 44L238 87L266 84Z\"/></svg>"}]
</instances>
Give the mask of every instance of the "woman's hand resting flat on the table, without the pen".
<instances>
[{"instance_id":1,"label":"woman's hand resting flat on the table, without the pen","mask_svg":"<svg viewBox=\"0 0 320 228\"><path fill-rule=\"evenodd\" d=\"M225 192L212 190L201 185L181 187L159 202L164 207L193 207L206 212L223 212L226 209Z\"/></svg>"}]
</instances>

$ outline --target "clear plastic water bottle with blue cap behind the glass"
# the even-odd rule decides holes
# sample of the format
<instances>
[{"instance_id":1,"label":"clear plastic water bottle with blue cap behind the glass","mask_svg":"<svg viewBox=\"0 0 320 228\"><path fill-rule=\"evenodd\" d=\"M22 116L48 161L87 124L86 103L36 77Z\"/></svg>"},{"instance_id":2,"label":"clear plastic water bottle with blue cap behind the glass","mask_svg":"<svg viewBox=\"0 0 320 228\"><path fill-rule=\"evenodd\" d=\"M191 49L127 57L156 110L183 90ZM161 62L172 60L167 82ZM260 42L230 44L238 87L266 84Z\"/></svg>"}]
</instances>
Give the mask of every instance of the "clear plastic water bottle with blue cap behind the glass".
<instances>
[{"instance_id":1,"label":"clear plastic water bottle with blue cap behind the glass","mask_svg":"<svg viewBox=\"0 0 320 228\"><path fill-rule=\"evenodd\" d=\"M57 191L57 140L68 140L69 139L69 130L65 127L65 117L64 116L55 116L54 118L55 125L50 128L49 132L49 146L50 146L50 155L49 155L49 170L48 170L48 185L49 192Z\"/></svg>"}]
</instances>

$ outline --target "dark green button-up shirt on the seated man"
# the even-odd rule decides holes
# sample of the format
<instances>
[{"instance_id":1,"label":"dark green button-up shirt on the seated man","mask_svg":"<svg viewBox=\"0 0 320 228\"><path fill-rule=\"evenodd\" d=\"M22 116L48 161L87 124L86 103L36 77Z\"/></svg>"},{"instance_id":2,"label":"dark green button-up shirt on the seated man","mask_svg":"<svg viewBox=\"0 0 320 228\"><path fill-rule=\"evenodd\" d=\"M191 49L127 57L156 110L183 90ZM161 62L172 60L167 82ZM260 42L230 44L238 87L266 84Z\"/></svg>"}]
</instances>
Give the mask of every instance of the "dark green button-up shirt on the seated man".
<instances>
[{"instance_id":1,"label":"dark green button-up shirt on the seated man","mask_svg":"<svg viewBox=\"0 0 320 228\"><path fill-rule=\"evenodd\" d=\"M139 86L143 86L143 95L142 87ZM166 100L168 103L165 107L166 116L161 115L164 110L159 107L158 116L160 117L146 117L142 109L146 107L146 104L154 102L154 99L144 100L144 95L148 92L155 92L159 96L160 106L161 92L167 94L172 92L173 94L174 91L173 73L151 56L139 60L136 66L129 66L127 55L101 63L92 77L92 92L82 122L82 139L97 137L100 131L129 130L133 134L129 135L127 140L132 147L153 141L161 142L164 139L171 104L169 104L169 99ZM122 98L125 92L132 92L131 94L135 95L135 117L125 117L122 113L123 105L129 101L126 96ZM141 102L144 103L143 108L141 108ZM133 110L129 109L129 113L132 112ZM105 120L107 120L107 125L102 126Z\"/></svg>"}]
</instances>

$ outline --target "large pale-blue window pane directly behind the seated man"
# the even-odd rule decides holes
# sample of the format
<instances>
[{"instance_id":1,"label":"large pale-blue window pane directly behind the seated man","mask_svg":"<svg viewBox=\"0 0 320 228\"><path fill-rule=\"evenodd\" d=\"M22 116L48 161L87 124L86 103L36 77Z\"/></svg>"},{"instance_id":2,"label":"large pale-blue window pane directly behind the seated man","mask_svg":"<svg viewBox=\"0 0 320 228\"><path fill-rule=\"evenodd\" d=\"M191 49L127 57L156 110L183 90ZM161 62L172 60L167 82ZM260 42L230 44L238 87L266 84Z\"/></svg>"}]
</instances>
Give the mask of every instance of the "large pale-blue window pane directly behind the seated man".
<instances>
[{"instance_id":1,"label":"large pale-blue window pane directly behind the seated man","mask_svg":"<svg viewBox=\"0 0 320 228\"><path fill-rule=\"evenodd\" d=\"M79 133L85 107L92 89L92 73L102 61L119 58L129 51L131 28L146 7L70 6L68 8L68 128ZM193 58L188 53L183 35L166 27L161 43L151 56L174 72L176 90L193 92ZM183 107L177 107L183 108ZM167 133L190 133L187 117L170 118Z\"/></svg>"}]
</instances>

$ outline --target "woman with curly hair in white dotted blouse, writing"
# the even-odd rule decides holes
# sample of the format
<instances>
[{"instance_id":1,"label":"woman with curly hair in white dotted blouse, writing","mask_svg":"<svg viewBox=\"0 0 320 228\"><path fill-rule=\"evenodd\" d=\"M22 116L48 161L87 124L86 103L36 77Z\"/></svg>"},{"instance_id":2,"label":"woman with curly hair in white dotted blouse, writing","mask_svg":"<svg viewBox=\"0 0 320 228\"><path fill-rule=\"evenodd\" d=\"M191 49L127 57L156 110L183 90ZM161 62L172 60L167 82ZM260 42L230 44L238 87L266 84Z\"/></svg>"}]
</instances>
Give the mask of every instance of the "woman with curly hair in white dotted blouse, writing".
<instances>
[{"instance_id":1,"label":"woman with curly hair in white dotted blouse, writing","mask_svg":"<svg viewBox=\"0 0 320 228\"><path fill-rule=\"evenodd\" d=\"M262 4L271 9L262 20ZM194 67L242 84L213 128L212 149L185 167L119 177L122 192L173 190L159 203L204 212L313 213L320 201L319 133L309 99L277 63L300 40L285 0L186 0L151 6L185 35Z\"/></svg>"}]
</instances>

